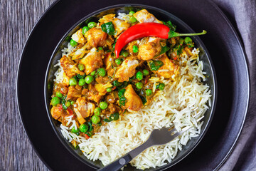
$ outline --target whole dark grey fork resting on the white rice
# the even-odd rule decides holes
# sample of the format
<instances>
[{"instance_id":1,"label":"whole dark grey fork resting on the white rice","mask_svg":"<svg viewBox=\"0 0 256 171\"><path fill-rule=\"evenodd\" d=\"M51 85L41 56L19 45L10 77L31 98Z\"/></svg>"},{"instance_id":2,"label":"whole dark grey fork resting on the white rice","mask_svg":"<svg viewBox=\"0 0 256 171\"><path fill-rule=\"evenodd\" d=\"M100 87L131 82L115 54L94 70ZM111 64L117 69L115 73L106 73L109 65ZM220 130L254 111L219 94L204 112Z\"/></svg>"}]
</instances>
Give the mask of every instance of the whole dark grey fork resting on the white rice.
<instances>
[{"instance_id":1,"label":"whole dark grey fork resting on the white rice","mask_svg":"<svg viewBox=\"0 0 256 171\"><path fill-rule=\"evenodd\" d=\"M110 163L109 165L106 165L105 167L101 168L98 171L117 171L124 167L124 165L127 165L128 162L130 162L132 159L134 159L134 157L139 155L148 147L154 145L164 145L170 142L171 140L174 140L174 138L178 137L178 135L182 135L188 129L189 128L185 128L181 132L178 132L176 128L174 128L174 125L172 125L169 128L161 128L160 130L155 129L152 131L151 135L149 136L149 139L146 140L146 142L144 142L142 145L139 145L139 147L128 152L119 159L114 160L114 162Z\"/></svg>"}]
</instances>

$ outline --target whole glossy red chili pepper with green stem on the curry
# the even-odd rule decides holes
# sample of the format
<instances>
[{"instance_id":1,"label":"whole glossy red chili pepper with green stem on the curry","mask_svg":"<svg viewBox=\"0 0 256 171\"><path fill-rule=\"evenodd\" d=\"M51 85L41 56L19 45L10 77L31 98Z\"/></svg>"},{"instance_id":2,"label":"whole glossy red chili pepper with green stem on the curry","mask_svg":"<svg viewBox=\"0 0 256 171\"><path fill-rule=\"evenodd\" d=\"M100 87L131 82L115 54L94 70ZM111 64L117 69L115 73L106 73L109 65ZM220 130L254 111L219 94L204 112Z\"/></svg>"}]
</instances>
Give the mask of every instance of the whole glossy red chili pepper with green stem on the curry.
<instances>
[{"instance_id":1,"label":"whole glossy red chili pepper with green stem on the curry","mask_svg":"<svg viewBox=\"0 0 256 171\"><path fill-rule=\"evenodd\" d=\"M177 33L172 31L168 26L164 24L157 23L142 23L135 24L124 31L124 33L119 36L117 43L114 46L114 53L119 57L119 53L122 48L127 45L127 43L134 41L137 38L154 36L159 38L172 38L177 36L196 36L206 34L206 31L203 30L202 33Z\"/></svg>"}]
</instances>

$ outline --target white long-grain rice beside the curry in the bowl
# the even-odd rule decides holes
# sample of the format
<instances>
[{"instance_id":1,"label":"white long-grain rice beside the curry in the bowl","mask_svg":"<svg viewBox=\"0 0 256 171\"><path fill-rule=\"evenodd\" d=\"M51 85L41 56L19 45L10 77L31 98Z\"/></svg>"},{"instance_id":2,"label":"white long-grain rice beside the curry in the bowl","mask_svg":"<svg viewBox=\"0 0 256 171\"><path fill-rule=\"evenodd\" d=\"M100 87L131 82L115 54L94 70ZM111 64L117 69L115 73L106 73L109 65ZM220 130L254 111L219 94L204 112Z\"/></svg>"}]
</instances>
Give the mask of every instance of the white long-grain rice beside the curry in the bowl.
<instances>
[{"instance_id":1,"label":"white long-grain rice beside the curry in the bowl","mask_svg":"<svg viewBox=\"0 0 256 171\"><path fill-rule=\"evenodd\" d=\"M70 53L73 50L71 47L64 48L63 55ZM67 117L65 119L73 124L70 128L60 125L63 137L69 141L79 142L80 150L88 159L100 160L103 165L107 165L145 142L154 129L169 127L172 124L178 131L191 127L166 145L146 149L130 164L144 170L171 162L178 150L182 150L183 145L201 133L201 120L210 105L209 86L201 82L205 80L205 73L203 62L198 58L199 50L194 48L192 53L191 58L196 60L190 60L186 55L181 57L180 76L175 81L164 78L149 79L154 83L154 91L157 81L165 83L166 87L164 90L156 91L152 102L139 112L125 113L119 120L102 125L99 133L95 133L88 140L70 132L76 124L72 117ZM59 63L56 66L60 68L55 73L55 81L61 83L63 69Z\"/></svg>"}]
</instances>

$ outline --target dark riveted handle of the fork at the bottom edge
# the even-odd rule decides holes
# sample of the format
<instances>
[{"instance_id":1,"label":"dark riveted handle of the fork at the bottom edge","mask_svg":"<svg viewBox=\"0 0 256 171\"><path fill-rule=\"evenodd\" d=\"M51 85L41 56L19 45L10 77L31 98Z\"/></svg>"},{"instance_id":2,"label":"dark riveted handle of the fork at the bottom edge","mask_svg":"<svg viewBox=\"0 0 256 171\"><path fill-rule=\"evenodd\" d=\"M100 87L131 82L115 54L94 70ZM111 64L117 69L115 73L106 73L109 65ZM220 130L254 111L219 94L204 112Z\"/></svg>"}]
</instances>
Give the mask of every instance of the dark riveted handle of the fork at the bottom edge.
<instances>
[{"instance_id":1,"label":"dark riveted handle of the fork at the bottom edge","mask_svg":"<svg viewBox=\"0 0 256 171\"><path fill-rule=\"evenodd\" d=\"M132 160L131 155L127 153L126 155L112 162L110 165L107 165L98 171L110 171L110 170L117 171L117 170L120 170L122 167L124 167L124 165L127 165L127 163L131 160Z\"/></svg>"}]
</instances>

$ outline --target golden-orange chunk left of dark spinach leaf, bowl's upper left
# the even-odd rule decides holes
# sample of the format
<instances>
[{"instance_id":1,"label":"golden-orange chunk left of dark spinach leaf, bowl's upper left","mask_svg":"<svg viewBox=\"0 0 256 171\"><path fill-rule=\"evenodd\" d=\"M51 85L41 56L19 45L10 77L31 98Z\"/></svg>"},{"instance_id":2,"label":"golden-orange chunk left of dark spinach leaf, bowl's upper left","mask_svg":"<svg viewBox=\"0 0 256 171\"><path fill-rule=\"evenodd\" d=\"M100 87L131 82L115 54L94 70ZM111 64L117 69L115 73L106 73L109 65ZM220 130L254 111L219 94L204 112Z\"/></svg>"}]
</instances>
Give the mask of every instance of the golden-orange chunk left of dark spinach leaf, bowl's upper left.
<instances>
[{"instance_id":1,"label":"golden-orange chunk left of dark spinach leaf, bowl's upper left","mask_svg":"<svg viewBox=\"0 0 256 171\"><path fill-rule=\"evenodd\" d=\"M87 43L97 48L97 46L104 46L105 40L107 38L107 33L102 31L101 28L90 28L89 31L85 33L85 38L87 38Z\"/></svg>"}]
</instances>

